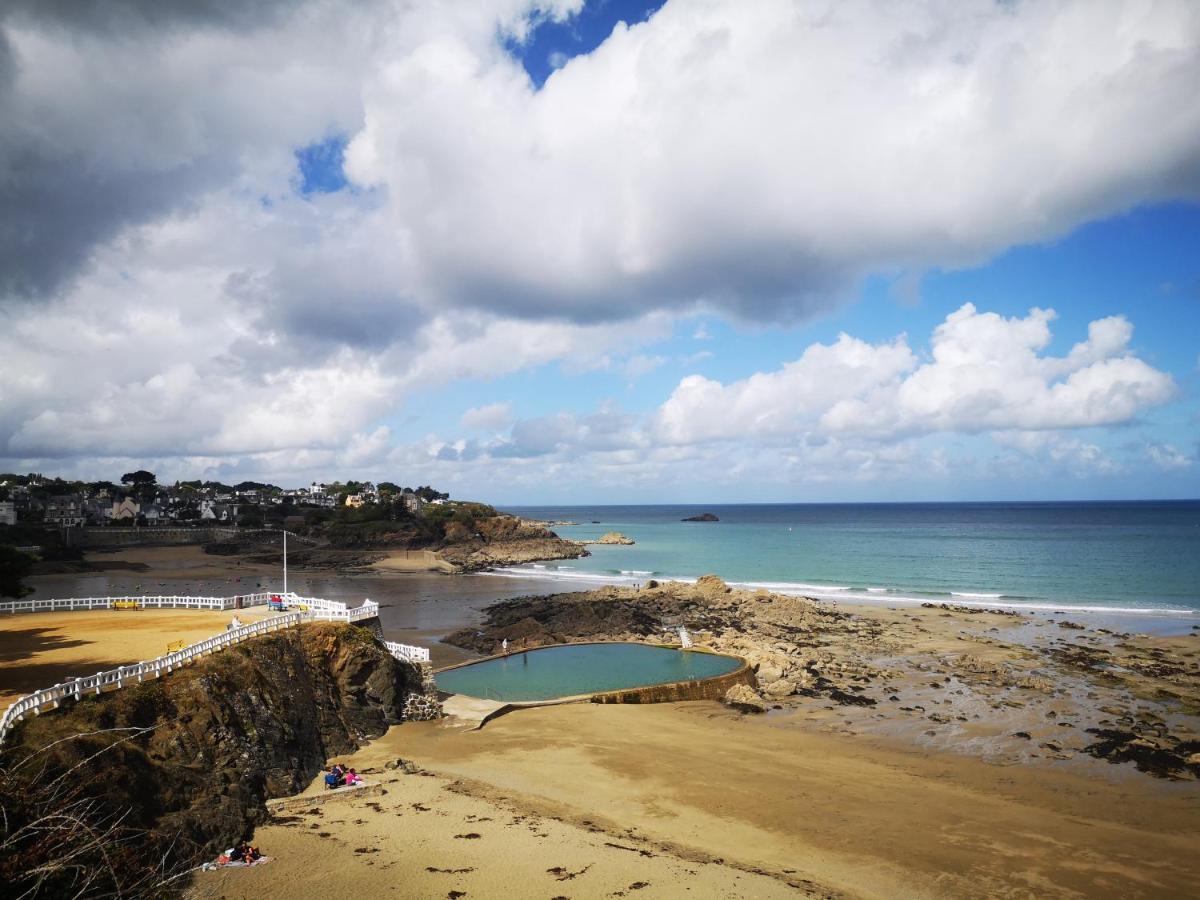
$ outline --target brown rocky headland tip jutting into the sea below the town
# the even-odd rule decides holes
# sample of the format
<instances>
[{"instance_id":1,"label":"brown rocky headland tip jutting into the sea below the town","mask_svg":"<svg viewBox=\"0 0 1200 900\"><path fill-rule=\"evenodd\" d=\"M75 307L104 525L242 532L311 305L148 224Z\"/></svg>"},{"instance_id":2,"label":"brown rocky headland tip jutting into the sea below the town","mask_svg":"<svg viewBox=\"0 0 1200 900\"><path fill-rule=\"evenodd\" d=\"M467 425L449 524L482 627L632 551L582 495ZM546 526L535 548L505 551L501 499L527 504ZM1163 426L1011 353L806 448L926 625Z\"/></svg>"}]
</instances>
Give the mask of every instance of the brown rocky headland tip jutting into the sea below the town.
<instances>
[{"instance_id":1,"label":"brown rocky headland tip jutting into the sea below the town","mask_svg":"<svg viewBox=\"0 0 1200 900\"><path fill-rule=\"evenodd\" d=\"M458 522L446 523L445 541L438 556L463 571L475 571L541 559L578 559L588 556L588 551L538 522L493 516L478 520L474 529Z\"/></svg>"}]
</instances>

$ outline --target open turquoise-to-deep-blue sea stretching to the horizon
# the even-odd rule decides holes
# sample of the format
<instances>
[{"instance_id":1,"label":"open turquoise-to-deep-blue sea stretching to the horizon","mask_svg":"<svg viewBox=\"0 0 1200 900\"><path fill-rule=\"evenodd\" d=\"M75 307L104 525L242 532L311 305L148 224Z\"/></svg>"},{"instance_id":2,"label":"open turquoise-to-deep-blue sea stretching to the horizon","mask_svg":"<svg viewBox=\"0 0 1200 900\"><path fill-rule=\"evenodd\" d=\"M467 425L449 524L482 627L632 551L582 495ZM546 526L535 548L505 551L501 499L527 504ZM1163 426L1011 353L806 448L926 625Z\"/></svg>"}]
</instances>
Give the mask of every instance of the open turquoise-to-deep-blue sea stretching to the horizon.
<instances>
[{"instance_id":1,"label":"open turquoise-to-deep-blue sea stretching to the horizon","mask_svg":"<svg viewBox=\"0 0 1200 900\"><path fill-rule=\"evenodd\" d=\"M1200 616L1200 500L509 506L634 546L500 574L727 582L828 600ZM719 522L682 522L712 512Z\"/></svg>"}]
</instances>

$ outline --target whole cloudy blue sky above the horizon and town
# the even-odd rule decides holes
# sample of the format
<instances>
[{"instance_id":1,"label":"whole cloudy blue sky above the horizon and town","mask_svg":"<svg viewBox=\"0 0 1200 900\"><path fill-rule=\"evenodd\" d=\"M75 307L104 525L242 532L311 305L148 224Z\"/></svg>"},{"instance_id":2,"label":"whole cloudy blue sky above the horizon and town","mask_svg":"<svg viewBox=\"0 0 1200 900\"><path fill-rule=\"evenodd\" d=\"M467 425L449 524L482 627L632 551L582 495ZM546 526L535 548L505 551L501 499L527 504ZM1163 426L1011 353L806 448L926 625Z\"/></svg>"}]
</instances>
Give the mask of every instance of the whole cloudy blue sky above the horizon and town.
<instances>
[{"instance_id":1,"label":"whole cloudy blue sky above the horizon and town","mask_svg":"<svg viewBox=\"0 0 1200 900\"><path fill-rule=\"evenodd\" d=\"M1189 0L11 0L0 470L1196 498L1198 84Z\"/></svg>"}]
</instances>

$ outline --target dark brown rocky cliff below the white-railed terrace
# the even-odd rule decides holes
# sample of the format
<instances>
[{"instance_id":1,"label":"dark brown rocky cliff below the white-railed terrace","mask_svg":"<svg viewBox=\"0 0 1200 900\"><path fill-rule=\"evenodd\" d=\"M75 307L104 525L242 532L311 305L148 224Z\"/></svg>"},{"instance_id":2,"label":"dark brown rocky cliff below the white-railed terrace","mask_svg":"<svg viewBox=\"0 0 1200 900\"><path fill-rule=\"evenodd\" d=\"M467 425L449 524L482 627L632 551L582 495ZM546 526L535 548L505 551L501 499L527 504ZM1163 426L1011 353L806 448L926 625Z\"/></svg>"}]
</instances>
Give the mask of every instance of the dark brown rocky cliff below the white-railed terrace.
<instances>
[{"instance_id":1,"label":"dark brown rocky cliff below the white-railed terrace","mask_svg":"<svg viewBox=\"0 0 1200 900\"><path fill-rule=\"evenodd\" d=\"M0 802L16 828L37 815L47 785L73 769L58 784L82 784L97 821L122 816L120 832L138 847L131 871L163 852L194 865L248 835L268 798L301 790L328 758L398 722L420 683L416 667L362 628L322 623L266 635L28 720L5 745ZM38 838L4 850L11 854L0 854L0 877L73 847Z\"/></svg>"}]
</instances>

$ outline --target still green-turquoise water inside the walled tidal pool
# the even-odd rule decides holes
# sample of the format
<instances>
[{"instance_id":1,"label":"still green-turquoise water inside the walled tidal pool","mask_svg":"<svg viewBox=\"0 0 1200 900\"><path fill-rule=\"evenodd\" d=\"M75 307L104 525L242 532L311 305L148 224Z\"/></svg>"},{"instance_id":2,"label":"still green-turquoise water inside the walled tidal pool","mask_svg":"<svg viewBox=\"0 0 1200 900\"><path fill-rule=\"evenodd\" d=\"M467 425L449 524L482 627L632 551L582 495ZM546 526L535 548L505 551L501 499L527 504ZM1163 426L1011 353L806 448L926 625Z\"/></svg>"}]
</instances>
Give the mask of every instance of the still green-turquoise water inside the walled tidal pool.
<instances>
[{"instance_id":1,"label":"still green-turquoise water inside the walled tidal pool","mask_svg":"<svg viewBox=\"0 0 1200 900\"><path fill-rule=\"evenodd\" d=\"M553 700L576 694L686 682L732 672L732 656L647 647L584 643L545 647L437 674L449 694L503 701Z\"/></svg>"}]
</instances>

